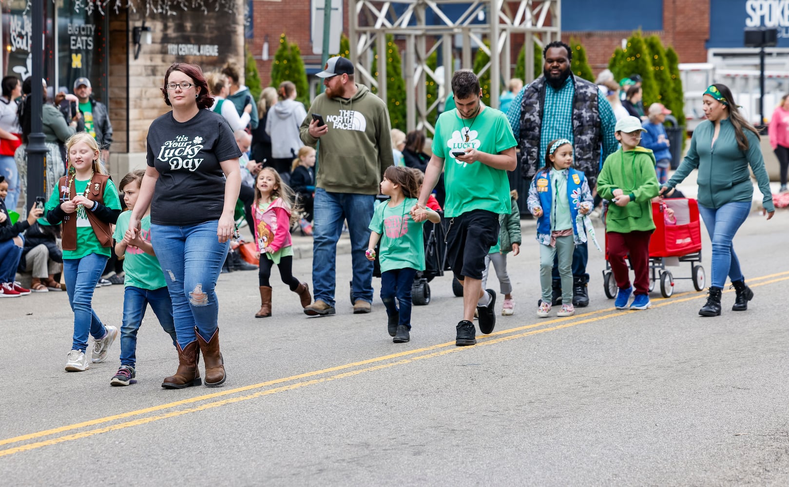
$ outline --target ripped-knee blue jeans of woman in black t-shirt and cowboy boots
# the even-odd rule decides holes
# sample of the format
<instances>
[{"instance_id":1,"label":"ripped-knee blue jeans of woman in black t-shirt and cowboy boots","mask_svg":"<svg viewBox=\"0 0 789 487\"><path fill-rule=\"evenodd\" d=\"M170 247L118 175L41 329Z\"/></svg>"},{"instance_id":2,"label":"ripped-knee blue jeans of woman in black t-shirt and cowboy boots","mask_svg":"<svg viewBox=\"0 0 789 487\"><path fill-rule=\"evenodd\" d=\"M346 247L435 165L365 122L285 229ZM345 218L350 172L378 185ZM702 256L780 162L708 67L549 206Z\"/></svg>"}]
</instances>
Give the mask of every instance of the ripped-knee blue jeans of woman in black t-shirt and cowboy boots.
<instances>
[{"instance_id":1,"label":"ripped-knee blue jeans of woman in black t-shirt and cowboy boots","mask_svg":"<svg viewBox=\"0 0 789 487\"><path fill-rule=\"evenodd\" d=\"M151 245L164 271L173 321L181 348L197 340L211 340L219 318L216 280L225 262L230 241L219 243L219 220L198 225L151 224Z\"/></svg>"}]
</instances>

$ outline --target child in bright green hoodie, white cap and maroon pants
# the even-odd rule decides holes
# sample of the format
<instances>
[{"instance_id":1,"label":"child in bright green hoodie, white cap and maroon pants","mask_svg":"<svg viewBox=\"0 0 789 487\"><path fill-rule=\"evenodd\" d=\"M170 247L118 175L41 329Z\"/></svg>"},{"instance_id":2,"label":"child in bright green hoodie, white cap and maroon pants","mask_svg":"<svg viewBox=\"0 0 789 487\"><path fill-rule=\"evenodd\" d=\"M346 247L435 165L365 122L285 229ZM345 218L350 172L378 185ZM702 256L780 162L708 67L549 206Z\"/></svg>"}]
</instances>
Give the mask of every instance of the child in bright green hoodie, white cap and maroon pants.
<instances>
[{"instance_id":1,"label":"child in bright green hoodie, white cap and maroon pants","mask_svg":"<svg viewBox=\"0 0 789 487\"><path fill-rule=\"evenodd\" d=\"M655 173L652 151L638 147L641 141L641 121L637 117L623 117L616 122L615 136L622 144L619 151L606 158L597 179L597 194L608 200L606 236L608 262L619 292L615 307L627 307L635 287L631 310L645 310L649 302L649 238L655 229L652 220L652 199L659 184ZM635 278L630 285L626 258L630 256Z\"/></svg>"}]
</instances>

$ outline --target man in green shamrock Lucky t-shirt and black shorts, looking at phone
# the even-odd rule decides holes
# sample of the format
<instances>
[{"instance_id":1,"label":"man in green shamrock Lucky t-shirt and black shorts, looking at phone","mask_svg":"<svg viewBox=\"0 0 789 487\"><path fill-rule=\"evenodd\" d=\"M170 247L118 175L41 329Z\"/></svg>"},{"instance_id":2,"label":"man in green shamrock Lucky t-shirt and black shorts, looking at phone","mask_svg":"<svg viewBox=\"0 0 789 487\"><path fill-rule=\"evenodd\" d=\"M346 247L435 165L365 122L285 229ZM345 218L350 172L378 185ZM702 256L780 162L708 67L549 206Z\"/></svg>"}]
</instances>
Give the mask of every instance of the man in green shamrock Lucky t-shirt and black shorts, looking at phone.
<instances>
[{"instance_id":1,"label":"man in green shamrock Lucky t-shirt and black shorts, looking at phone","mask_svg":"<svg viewBox=\"0 0 789 487\"><path fill-rule=\"evenodd\" d=\"M495 327L495 291L482 290L485 257L499 240L499 215L509 214L510 183L517 142L507 116L484 106L477 76L468 69L452 75L453 110L441 113L433 136L432 158L424 174L419 203L428 196L444 172L447 199L444 217L447 230L447 262L463 285L463 319L455 327L458 347L477 344L474 310L480 331ZM413 214L414 220L417 214Z\"/></svg>"}]
</instances>

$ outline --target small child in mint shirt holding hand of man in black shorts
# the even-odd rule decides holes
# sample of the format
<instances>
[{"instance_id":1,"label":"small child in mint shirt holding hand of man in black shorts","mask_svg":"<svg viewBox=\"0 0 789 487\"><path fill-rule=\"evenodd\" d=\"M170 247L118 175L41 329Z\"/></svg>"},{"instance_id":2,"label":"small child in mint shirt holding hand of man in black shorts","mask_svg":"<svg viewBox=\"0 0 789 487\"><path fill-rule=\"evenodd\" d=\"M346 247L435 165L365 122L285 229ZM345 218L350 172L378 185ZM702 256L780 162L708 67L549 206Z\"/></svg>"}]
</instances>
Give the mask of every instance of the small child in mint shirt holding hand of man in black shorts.
<instances>
[{"instance_id":1,"label":"small child in mint shirt holding hand of man in black shorts","mask_svg":"<svg viewBox=\"0 0 789 487\"><path fill-rule=\"evenodd\" d=\"M417 271L424 270L424 220L439 223L435 211L424 208L417 221L410 214L417 204L419 182L411 169L390 165L383 172L381 193L390 199L376 207L370 222L370 241L365 252L368 260L376 259L376 243L380 240L381 300L387 308L389 336L395 344L410 340L411 284ZM383 239L381 238L383 236ZM394 304L398 300L400 307Z\"/></svg>"}]
</instances>

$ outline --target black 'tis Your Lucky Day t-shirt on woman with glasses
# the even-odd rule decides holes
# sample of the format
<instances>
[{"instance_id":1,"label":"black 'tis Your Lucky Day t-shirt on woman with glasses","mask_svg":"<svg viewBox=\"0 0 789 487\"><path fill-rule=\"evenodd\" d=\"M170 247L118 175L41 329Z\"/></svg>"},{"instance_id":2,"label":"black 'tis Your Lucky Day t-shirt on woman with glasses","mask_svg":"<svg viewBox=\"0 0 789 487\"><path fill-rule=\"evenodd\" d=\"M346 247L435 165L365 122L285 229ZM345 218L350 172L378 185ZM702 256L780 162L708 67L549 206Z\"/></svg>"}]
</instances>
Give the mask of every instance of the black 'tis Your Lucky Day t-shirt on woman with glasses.
<instances>
[{"instance_id":1,"label":"black 'tis Your Lucky Day t-shirt on woman with glasses","mask_svg":"<svg viewBox=\"0 0 789 487\"><path fill-rule=\"evenodd\" d=\"M225 174L219 162L241 156L230 125L219 113L200 110L191 120L172 112L148 129L148 165L159 172L151 223L198 225L219 220L225 203Z\"/></svg>"}]
</instances>

